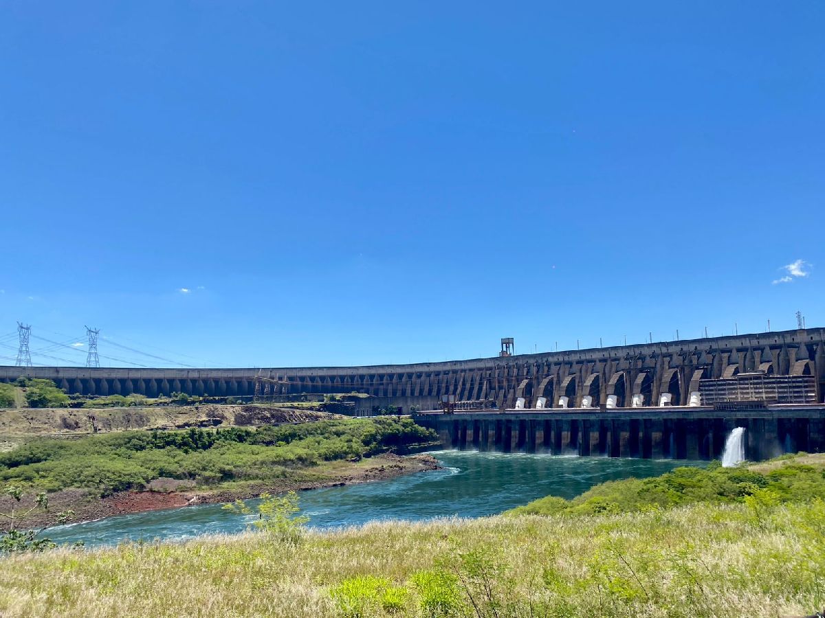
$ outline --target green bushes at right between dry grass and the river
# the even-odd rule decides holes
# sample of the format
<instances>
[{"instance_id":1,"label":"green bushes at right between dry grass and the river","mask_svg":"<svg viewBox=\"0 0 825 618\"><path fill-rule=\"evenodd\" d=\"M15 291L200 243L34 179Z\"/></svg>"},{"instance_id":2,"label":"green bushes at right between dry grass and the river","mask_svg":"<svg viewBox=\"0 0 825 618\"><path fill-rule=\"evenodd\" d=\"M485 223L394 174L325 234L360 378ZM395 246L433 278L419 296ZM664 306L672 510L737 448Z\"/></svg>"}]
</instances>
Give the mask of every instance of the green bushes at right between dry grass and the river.
<instances>
[{"instance_id":1,"label":"green bushes at right between dry grass and the river","mask_svg":"<svg viewBox=\"0 0 825 618\"><path fill-rule=\"evenodd\" d=\"M803 454L804 455L804 454ZM684 467L652 479L615 480L596 485L572 500L548 496L512 509L515 515L579 516L626 513L697 502L743 503L749 497L777 503L825 498L825 471L819 466L784 457L783 466L723 468Z\"/></svg>"}]
</instances>

